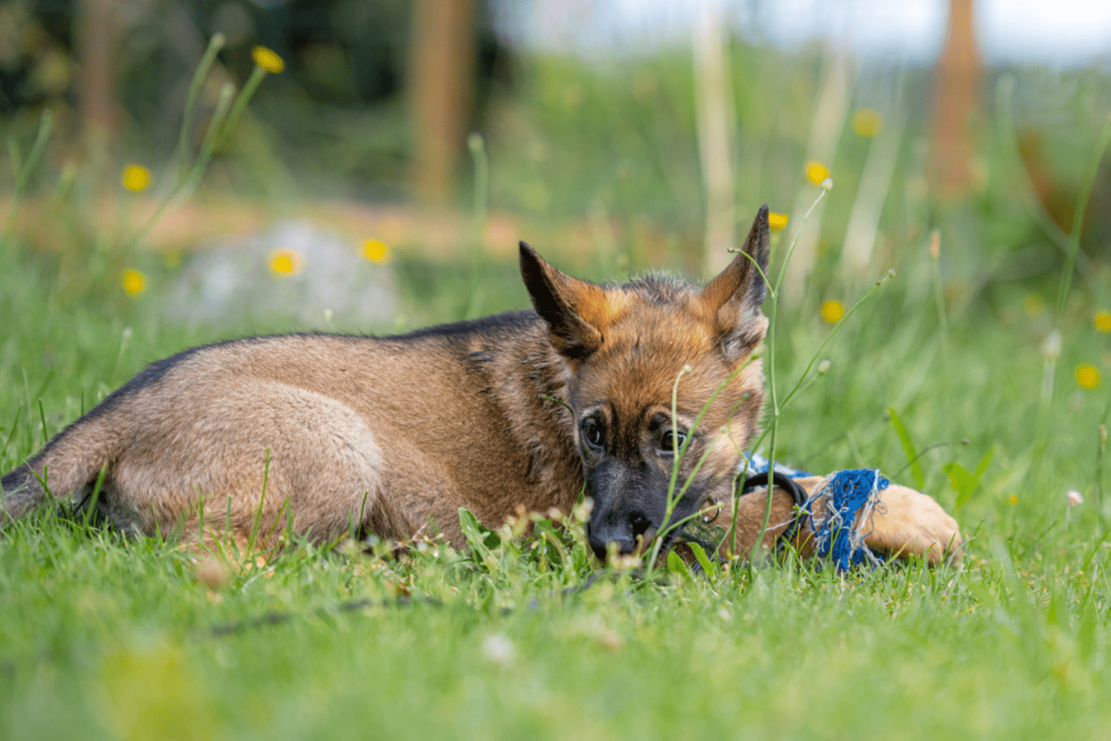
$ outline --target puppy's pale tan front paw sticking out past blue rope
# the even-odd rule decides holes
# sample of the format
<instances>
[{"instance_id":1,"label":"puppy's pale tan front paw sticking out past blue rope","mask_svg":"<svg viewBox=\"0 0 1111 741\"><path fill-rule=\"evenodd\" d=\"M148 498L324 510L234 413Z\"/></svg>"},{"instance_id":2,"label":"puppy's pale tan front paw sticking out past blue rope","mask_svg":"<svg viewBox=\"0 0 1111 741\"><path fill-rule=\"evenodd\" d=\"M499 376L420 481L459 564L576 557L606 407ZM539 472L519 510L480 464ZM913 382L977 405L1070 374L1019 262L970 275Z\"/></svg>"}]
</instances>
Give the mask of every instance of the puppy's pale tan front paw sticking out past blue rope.
<instances>
[{"instance_id":1,"label":"puppy's pale tan front paw sticking out past blue rope","mask_svg":"<svg viewBox=\"0 0 1111 741\"><path fill-rule=\"evenodd\" d=\"M892 484L880 494L880 504L868 522L861 524L864 542L889 556L925 558L931 566L961 558L961 532L957 520L933 497Z\"/></svg>"}]
</instances>

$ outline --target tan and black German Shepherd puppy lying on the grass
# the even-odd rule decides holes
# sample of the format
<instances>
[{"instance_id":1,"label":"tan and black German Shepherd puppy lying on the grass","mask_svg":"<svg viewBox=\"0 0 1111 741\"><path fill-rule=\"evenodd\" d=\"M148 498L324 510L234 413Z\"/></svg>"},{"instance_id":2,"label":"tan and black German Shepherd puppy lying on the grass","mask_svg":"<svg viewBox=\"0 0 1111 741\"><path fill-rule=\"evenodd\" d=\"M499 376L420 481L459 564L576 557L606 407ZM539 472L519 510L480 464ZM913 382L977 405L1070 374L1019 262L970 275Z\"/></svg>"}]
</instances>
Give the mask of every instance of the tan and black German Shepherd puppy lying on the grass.
<instances>
[{"instance_id":1,"label":"tan and black German Shepherd puppy lying on the grass","mask_svg":"<svg viewBox=\"0 0 1111 741\"><path fill-rule=\"evenodd\" d=\"M90 506L103 470L97 515L136 534L183 524L203 539L227 524L246 541L281 532L291 512L291 527L317 540L352 522L398 539L434 518L461 547L460 507L498 527L521 508L568 512L585 487L590 544L604 557L609 544L633 551L664 524L684 441L679 481L693 481L670 521L707 501L722 503L731 521L763 403L753 351L768 327L757 270L767 273L768 260L767 206L743 254L705 287L654 275L594 285L521 243L536 312L393 337L293 334L187 349L3 476L0 524L48 493ZM960 545L957 522L930 497L892 485L883 504L865 539L873 549L938 561ZM764 493L739 499L742 552L764 508ZM767 542L791 517L791 497L777 490Z\"/></svg>"}]
</instances>

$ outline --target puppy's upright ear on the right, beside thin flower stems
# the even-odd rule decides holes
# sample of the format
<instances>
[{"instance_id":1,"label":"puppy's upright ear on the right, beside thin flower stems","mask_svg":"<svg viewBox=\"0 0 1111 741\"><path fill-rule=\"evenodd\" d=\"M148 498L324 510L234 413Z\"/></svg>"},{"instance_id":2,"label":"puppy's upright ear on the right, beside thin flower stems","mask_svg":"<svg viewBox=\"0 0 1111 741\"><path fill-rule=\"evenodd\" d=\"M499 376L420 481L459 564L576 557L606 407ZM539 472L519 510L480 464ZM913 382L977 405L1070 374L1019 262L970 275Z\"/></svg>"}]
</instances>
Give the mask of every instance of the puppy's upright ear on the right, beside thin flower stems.
<instances>
[{"instance_id":1,"label":"puppy's upright ear on the right, beside thin flower stems","mask_svg":"<svg viewBox=\"0 0 1111 741\"><path fill-rule=\"evenodd\" d=\"M752 222L741 253L702 290L702 304L713 317L721 351L730 363L744 359L768 331L760 304L768 293L764 276L771 255L770 234L765 203Z\"/></svg>"}]
</instances>

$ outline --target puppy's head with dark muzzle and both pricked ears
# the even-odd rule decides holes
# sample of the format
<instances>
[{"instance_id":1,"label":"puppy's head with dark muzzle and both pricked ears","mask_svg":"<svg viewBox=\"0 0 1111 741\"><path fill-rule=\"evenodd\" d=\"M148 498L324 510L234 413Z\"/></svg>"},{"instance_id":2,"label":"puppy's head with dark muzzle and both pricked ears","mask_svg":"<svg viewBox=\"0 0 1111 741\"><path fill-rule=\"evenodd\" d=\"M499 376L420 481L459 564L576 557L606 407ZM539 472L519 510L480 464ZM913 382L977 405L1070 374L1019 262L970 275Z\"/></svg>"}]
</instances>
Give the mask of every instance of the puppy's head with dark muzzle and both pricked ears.
<instances>
[{"instance_id":1,"label":"puppy's head with dark muzzle and both pricked ears","mask_svg":"<svg viewBox=\"0 0 1111 741\"><path fill-rule=\"evenodd\" d=\"M768 206L743 252L705 287L660 276L600 286L564 275L521 244L532 305L567 364L568 402L594 501L590 544L603 559L607 544L631 552L639 537L664 525L669 489L678 496L685 487L669 522L694 514L707 497L730 496L763 404L763 373L752 352L768 328L760 311Z\"/></svg>"}]
</instances>

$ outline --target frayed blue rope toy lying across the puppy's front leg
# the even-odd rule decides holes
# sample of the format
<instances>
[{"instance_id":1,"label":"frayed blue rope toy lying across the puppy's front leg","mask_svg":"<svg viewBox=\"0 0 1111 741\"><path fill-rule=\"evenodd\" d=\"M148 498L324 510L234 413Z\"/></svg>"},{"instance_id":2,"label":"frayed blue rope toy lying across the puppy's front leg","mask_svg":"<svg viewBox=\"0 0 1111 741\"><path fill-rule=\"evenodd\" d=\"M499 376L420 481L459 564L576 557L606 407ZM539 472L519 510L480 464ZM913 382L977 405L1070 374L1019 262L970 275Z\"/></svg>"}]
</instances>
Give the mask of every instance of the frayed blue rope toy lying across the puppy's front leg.
<instances>
[{"instance_id":1,"label":"frayed blue rope toy lying across the puppy's front leg","mask_svg":"<svg viewBox=\"0 0 1111 741\"><path fill-rule=\"evenodd\" d=\"M768 471L768 459L753 454L749 458L749 476ZM741 464L743 470L744 464ZM775 464L775 473L790 478L804 478L810 474ZM870 522L871 514L880 505L880 491L891 485L880 475L878 468L850 468L833 475L824 486L817 489L802 506L804 515L810 520L810 529L814 534L814 548L822 558L829 558L837 564L841 572L855 566L879 566L881 557L872 552L864 544L864 538L871 530L864 530L864 524ZM814 504L822 495L827 495L824 507L813 511ZM860 527L853 528L857 516Z\"/></svg>"}]
</instances>

